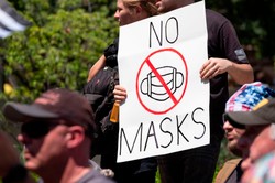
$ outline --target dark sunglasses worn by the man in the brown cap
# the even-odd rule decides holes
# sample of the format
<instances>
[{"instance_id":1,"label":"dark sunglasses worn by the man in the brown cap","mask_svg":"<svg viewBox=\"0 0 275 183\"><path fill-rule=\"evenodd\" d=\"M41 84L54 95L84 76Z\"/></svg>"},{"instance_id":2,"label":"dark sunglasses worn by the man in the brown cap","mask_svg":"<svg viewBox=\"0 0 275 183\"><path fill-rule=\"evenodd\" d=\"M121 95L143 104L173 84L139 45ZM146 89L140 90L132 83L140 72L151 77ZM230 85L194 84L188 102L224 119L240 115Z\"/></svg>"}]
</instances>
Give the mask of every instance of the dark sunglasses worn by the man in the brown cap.
<instances>
[{"instance_id":1,"label":"dark sunglasses worn by the man in the brown cap","mask_svg":"<svg viewBox=\"0 0 275 183\"><path fill-rule=\"evenodd\" d=\"M21 132L29 138L38 139L46 136L54 127L58 126L57 121L31 121L21 127Z\"/></svg>"}]
</instances>

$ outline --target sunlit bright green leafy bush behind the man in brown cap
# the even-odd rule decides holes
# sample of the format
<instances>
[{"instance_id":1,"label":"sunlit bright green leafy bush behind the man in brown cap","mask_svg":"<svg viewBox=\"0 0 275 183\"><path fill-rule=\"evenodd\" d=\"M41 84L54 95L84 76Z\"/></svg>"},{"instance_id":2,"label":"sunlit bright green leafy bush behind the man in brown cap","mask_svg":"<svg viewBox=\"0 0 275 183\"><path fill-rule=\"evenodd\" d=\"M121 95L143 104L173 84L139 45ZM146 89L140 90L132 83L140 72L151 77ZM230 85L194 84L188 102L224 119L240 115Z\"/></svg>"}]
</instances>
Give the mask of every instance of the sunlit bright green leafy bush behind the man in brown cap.
<instances>
[{"instance_id":1,"label":"sunlit bright green leafy bush behind the man in brown cap","mask_svg":"<svg viewBox=\"0 0 275 183\"><path fill-rule=\"evenodd\" d=\"M52 87L80 90L89 68L118 35L106 7L90 13L76 2L25 4L23 14L33 25L6 39L0 50L6 78L15 78L13 99L29 101Z\"/></svg>"}]
</instances>

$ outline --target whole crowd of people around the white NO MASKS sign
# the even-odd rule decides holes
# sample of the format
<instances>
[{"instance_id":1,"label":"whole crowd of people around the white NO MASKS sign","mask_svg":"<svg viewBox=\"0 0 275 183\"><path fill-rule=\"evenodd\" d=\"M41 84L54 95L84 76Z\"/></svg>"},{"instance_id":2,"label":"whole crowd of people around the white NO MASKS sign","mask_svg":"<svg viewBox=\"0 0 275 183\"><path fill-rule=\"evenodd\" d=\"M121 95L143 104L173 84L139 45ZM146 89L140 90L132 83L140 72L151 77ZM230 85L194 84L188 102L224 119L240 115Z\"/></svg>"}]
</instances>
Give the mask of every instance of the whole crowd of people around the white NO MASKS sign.
<instances>
[{"instance_id":1,"label":"whole crowd of people around the white NO MASKS sign","mask_svg":"<svg viewBox=\"0 0 275 183\"><path fill-rule=\"evenodd\" d=\"M194 2L117 0L114 18L123 26ZM200 78L210 82L210 144L117 163L119 121L110 121L110 116L114 104L127 103L128 94L119 84L119 39L116 39L90 68L84 88L85 97L59 88L42 93L30 105L4 105L4 117L21 123L18 140L23 144L24 163L7 134L0 132L2 182L154 183L158 168L162 183L211 183L224 134L228 149L240 158L224 164L215 180L217 183L274 182L275 92L260 82L253 83L253 68L231 22L209 9L206 10L206 18L208 60L201 65ZM111 73L116 74L116 78L106 88L97 88L107 68L114 71ZM242 85L230 98L228 76ZM95 90L97 95L91 95ZM111 93L103 94L103 90ZM98 97L99 94L103 97ZM97 98L89 98L95 96ZM106 100L105 105L99 105L101 100ZM99 152L94 152L92 147L98 146L99 134L102 144ZM97 153L101 155L99 165L90 160ZM101 169L110 169L111 173Z\"/></svg>"}]
</instances>

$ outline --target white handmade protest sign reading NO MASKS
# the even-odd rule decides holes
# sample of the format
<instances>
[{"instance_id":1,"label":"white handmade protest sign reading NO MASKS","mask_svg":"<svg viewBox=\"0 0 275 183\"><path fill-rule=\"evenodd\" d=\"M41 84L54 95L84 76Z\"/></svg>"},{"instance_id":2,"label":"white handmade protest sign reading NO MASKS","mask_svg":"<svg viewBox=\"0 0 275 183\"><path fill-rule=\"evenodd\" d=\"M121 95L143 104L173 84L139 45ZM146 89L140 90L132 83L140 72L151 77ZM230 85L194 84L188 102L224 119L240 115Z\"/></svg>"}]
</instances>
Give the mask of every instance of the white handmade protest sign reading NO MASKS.
<instances>
[{"instance_id":1,"label":"white handmade protest sign reading NO MASKS","mask_svg":"<svg viewBox=\"0 0 275 183\"><path fill-rule=\"evenodd\" d=\"M209 144L205 1L120 28L118 162Z\"/></svg>"}]
</instances>

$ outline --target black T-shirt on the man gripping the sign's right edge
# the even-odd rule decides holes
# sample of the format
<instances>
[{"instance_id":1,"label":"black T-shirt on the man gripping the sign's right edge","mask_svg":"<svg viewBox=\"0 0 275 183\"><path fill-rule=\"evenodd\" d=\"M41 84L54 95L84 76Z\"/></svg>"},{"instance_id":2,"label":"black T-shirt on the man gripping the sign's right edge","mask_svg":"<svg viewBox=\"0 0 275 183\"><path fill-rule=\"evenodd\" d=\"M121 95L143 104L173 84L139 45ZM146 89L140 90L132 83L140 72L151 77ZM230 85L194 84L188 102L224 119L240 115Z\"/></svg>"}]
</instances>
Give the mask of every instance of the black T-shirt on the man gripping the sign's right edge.
<instances>
[{"instance_id":1,"label":"black T-shirt on the man gripping the sign's right edge","mask_svg":"<svg viewBox=\"0 0 275 183\"><path fill-rule=\"evenodd\" d=\"M223 15L206 10L208 30L208 57L228 58L239 64L249 64L231 22ZM210 80L210 130L211 134L223 137L222 114L229 98L228 74L220 74Z\"/></svg>"}]
</instances>

